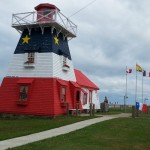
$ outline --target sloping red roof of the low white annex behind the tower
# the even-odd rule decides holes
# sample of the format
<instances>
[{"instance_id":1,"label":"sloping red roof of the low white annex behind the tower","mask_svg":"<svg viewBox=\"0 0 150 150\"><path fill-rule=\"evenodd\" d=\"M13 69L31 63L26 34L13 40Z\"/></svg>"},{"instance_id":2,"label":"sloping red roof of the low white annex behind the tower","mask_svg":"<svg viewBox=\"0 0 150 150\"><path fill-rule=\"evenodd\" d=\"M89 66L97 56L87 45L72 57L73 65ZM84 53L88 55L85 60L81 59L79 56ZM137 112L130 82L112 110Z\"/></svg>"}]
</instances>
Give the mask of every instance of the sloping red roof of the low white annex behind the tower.
<instances>
[{"instance_id":1,"label":"sloping red roof of the low white annex behind the tower","mask_svg":"<svg viewBox=\"0 0 150 150\"><path fill-rule=\"evenodd\" d=\"M74 72L79 85L99 90L99 87L95 85L89 78L87 78L81 71L74 69Z\"/></svg>"}]
</instances>

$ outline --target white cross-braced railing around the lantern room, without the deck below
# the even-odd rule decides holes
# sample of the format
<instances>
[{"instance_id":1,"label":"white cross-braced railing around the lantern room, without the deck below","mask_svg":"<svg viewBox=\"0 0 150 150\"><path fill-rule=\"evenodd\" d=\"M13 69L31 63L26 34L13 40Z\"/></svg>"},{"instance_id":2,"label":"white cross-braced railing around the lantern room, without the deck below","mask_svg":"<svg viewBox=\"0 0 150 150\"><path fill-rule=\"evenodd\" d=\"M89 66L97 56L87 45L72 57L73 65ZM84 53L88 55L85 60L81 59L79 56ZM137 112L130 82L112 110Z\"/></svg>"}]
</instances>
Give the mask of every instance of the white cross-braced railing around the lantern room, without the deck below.
<instances>
[{"instance_id":1,"label":"white cross-braced railing around the lantern room, without the deck below","mask_svg":"<svg viewBox=\"0 0 150 150\"><path fill-rule=\"evenodd\" d=\"M54 22L58 23L76 36L77 26L57 9L47 12L45 15L43 14L43 11L17 13L12 15L12 27L14 28L18 26L28 26L42 23L48 24Z\"/></svg>"}]
</instances>

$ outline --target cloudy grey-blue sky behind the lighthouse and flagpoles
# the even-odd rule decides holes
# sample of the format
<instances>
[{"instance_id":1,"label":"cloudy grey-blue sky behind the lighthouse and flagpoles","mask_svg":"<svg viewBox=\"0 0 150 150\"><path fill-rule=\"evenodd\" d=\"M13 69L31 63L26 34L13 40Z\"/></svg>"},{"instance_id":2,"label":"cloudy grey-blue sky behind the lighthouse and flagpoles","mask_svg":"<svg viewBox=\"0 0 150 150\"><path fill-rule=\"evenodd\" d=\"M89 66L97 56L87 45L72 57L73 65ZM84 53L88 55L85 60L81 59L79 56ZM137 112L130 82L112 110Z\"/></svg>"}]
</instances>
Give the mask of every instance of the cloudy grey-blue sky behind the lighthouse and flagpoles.
<instances>
[{"instance_id":1,"label":"cloudy grey-blue sky behind the lighthouse and flagpoles","mask_svg":"<svg viewBox=\"0 0 150 150\"><path fill-rule=\"evenodd\" d=\"M91 3L93 2L93 3ZM20 34L11 27L12 14L34 11L40 3L56 5L78 28L69 41L74 67L100 87L100 102L135 103L136 63L150 72L149 0L1 0L0 82L5 77ZM148 99L148 100L145 100ZM137 72L137 101L142 102L142 73ZM150 78L143 78L143 101L150 104Z\"/></svg>"}]
</instances>

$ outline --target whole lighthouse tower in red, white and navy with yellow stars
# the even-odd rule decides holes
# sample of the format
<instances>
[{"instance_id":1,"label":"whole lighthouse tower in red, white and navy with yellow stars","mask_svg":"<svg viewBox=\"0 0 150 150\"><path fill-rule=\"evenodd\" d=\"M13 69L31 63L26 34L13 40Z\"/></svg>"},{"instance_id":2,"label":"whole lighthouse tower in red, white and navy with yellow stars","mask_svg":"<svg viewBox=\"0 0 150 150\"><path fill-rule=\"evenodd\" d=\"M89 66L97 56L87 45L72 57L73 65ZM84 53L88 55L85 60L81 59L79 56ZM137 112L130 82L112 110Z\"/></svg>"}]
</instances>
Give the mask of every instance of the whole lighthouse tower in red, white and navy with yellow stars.
<instances>
[{"instance_id":1,"label":"whole lighthouse tower in red, white and navy with yellow stars","mask_svg":"<svg viewBox=\"0 0 150 150\"><path fill-rule=\"evenodd\" d=\"M21 37L1 85L0 113L57 116L77 104L82 110L88 92L77 81L68 46L77 26L55 5L35 10L13 15L12 27ZM89 88L99 89L93 83Z\"/></svg>"}]
</instances>

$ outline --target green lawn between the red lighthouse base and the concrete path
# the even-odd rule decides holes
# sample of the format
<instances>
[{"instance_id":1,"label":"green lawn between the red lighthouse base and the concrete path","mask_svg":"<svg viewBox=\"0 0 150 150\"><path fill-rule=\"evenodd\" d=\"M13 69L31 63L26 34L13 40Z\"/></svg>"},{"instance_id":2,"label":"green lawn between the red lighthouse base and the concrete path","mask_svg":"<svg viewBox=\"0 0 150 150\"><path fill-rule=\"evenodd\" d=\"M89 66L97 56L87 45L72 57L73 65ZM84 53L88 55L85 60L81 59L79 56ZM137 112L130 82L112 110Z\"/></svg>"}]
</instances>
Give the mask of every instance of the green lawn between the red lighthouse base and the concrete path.
<instances>
[{"instance_id":1,"label":"green lawn between the red lighthouse base and the concrete path","mask_svg":"<svg viewBox=\"0 0 150 150\"><path fill-rule=\"evenodd\" d=\"M61 116L52 118L0 118L0 141L57 128L93 117Z\"/></svg>"}]
</instances>

